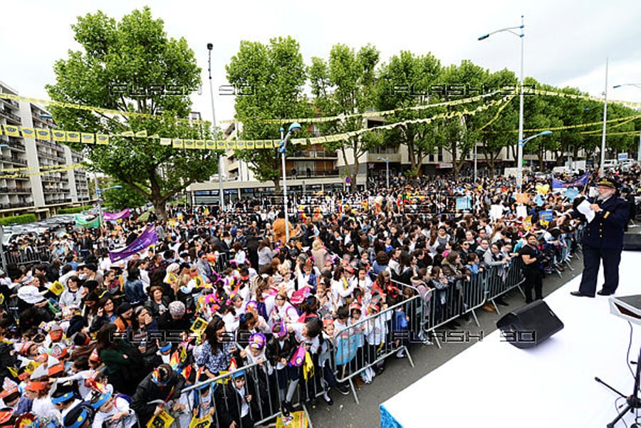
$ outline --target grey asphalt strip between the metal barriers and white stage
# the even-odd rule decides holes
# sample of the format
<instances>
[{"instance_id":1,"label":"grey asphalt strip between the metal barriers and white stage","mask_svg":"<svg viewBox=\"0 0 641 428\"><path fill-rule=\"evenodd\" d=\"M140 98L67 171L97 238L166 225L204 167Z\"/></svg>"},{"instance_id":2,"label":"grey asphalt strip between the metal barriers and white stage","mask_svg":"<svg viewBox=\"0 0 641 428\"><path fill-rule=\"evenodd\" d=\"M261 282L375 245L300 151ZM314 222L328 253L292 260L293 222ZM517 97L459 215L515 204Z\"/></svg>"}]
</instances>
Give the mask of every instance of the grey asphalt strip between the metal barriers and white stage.
<instances>
[{"instance_id":1,"label":"grey asphalt strip between the metal barriers and white stage","mask_svg":"<svg viewBox=\"0 0 641 428\"><path fill-rule=\"evenodd\" d=\"M580 275L583 268L583 261L575 257L572 264L575 271L570 271L570 269L566 268L566 271L563 272L563 278L559 278L555 273L543 279L543 296L547 296L575 276ZM509 306L499 306L499 310L501 310L501 314L503 315L509 310L525 304L523 296L521 296L518 290L511 291L505 300L509 303ZM477 328L475 323L468 325L462 323L462 329L469 329L471 332L483 330L485 335L489 335L489 333L496 330L496 320L499 320L500 315L497 315L495 312L486 312L482 309L477 310L476 315L479 318L481 326ZM320 399L316 402L316 405L311 404L308 407L313 427L379 427L379 404L397 392L404 390L409 385L412 385L412 383L424 375L427 375L427 373L439 367L444 362L447 362L450 358L467 349L469 346L474 345L474 343L474 340L471 340L470 343L444 343L441 349L436 345L412 345L410 353L415 363L414 368L410 366L410 362L407 359L397 360L395 357L390 357L385 372L375 377L374 382L370 385L364 385L363 388L358 390L360 404L356 404L352 395L344 396L340 395L338 391L331 391L330 396L334 400L332 406L328 406ZM501 377L501 373L494 373L492 376ZM457 382L457 380L453 381ZM461 387L464 388L463 383ZM452 397L452 400L461 400L462 397L463 395L461 397ZM425 398L429 400L429 397Z\"/></svg>"}]
</instances>

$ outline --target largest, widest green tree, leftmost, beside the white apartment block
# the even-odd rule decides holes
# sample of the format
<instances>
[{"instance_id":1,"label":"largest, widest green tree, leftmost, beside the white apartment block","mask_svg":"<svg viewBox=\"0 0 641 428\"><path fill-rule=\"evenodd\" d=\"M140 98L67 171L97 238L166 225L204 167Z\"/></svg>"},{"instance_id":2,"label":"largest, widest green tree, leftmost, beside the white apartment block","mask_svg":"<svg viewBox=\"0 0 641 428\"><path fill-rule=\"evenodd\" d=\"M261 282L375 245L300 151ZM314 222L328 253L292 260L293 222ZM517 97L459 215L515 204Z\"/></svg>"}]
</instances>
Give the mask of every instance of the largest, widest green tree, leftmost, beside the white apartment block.
<instances>
[{"instance_id":1,"label":"largest, widest green tree, leftmost, beside the white apartment block","mask_svg":"<svg viewBox=\"0 0 641 428\"><path fill-rule=\"evenodd\" d=\"M93 168L114 177L150 201L167 218L165 203L193 182L217 170L217 152L175 150L154 138L115 137L123 131L148 135L205 139L209 127L184 120L191 111L189 94L199 85L200 68L184 38L170 38L163 21L149 8L132 11L120 22L102 11L78 17L72 26L80 51L56 61L56 83L46 85L53 100L92 105L161 118L132 118L88 110L52 107L66 130L112 135L108 145L67 143L83 150ZM165 167L165 174L160 168Z\"/></svg>"}]
</instances>

